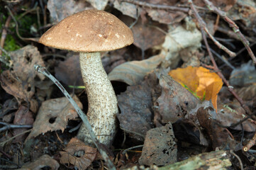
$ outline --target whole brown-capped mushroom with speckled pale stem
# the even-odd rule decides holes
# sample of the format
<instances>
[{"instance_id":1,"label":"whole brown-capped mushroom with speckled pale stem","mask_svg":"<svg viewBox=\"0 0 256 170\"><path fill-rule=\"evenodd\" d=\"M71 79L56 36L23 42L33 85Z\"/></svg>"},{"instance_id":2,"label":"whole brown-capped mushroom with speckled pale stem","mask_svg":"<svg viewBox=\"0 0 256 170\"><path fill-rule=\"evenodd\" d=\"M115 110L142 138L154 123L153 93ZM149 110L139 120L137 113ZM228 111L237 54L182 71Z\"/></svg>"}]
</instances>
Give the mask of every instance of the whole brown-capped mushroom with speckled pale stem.
<instances>
[{"instance_id":1,"label":"whole brown-capped mushroom with speckled pale stem","mask_svg":"<svg viewBox=\"0 0 256 170\"><path fill-rule=\"evenodd\" d=\"M133 33L106 11L75 13L45 32L39 40L46 46L79 52L80 68L88 97L88 119L99 142L111 145L116 133L117 99L101 63L101 52L133 43ZM84 125L77 137L91 144Z\"/></svg>"}]
</instances>

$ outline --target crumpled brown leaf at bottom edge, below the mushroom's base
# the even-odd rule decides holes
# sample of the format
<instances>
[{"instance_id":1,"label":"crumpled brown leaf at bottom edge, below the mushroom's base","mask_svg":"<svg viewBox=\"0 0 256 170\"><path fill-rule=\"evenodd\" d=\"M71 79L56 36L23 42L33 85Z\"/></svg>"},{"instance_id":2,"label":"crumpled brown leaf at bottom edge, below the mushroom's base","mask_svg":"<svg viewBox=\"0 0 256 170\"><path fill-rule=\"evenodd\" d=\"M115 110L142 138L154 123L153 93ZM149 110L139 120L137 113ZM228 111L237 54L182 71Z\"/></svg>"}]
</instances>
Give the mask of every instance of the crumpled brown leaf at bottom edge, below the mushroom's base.
<instances>
[{"instance_id":1,"label":"crumpled brown leaf at bottom edge, below the mushroom's base","mask_svg":"<svg viewBox=\"0 0 256 170\"><path fill-rule=\"evenodd\" d=\"M77 138L72 138L67 147L63 150L64 152L60 152L60 163L72 164L77 167L77 169L87 169L96 157L96 149L84 145L84 142ZM77 153L79 153L79 155L77 155Z\"/></svg>"}]
</instances>

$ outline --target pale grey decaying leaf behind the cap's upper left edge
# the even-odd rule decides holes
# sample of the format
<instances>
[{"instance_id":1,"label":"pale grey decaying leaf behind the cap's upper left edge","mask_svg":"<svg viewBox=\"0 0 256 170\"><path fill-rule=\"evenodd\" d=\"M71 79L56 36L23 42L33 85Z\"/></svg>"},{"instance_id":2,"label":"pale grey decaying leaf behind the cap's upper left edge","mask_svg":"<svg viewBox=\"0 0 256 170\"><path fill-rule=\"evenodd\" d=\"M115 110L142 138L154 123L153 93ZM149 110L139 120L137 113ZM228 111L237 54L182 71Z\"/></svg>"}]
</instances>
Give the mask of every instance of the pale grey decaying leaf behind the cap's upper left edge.
<instances>
[{"instance_id":1,"label":"pale grey decaying leaf behind the cap's upper left edge","mask_svg":"<svg viewBox=\"0 0 256 170\"><path fill-rule=\"evenodd\" d=\"M58 23L67 16L71 16L74 13L87 10L91 7L89 3L81 0L49 0L47 8L50 11L52 23Z\"/></svg>"}]
</instances>

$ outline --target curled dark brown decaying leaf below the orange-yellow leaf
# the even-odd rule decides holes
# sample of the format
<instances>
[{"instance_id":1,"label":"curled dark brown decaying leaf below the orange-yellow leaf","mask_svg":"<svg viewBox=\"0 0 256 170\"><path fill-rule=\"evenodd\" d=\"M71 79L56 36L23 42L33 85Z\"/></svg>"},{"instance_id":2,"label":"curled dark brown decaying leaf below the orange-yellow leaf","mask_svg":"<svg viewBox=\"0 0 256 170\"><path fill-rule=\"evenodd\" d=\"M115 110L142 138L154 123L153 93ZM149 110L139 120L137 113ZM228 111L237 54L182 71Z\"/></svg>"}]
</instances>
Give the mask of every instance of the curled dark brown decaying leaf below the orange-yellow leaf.
<instances>
[{"instance_id":1,"label":"curled dark brown decaying leaf below the orange-yellow leaf","mask_svg":"<svg viewBox=\"0 0 256 170\"><path fill-rule=\"evenodd\" d=\"M186 115L187 120L193 121L196 125L206 130L213 149L225 145L228 140L228 132L217 124L219 122L216 117L217 113L211 101L199 103L196 108L191 109Z\"/></svg>"}]
</instances>

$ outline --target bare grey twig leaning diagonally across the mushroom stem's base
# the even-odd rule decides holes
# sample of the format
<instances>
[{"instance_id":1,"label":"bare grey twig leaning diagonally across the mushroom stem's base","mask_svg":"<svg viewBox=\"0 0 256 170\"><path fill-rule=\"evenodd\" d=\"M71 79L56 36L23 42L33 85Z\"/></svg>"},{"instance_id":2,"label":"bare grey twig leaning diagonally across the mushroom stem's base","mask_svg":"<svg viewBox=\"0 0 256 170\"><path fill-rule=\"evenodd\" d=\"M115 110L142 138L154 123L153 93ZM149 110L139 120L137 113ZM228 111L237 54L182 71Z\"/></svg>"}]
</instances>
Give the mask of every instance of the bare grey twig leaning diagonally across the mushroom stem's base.
<instances>
[{"instance_id":1,"label":"bare grey twig leaning diagonally across the mushroom stem's base","mask_svg":"<svg viewBox=\"0 0 256 170\"><path fill-rule=\"evenodd\" d=\"M50 80L52 80L57 85L57 87L62 91L62 93L67 97L69 102L72 104L72 106L77 111L80 118L82 119L84 125L86 126L86 128L89 132L89 135L91 136L91 141L94 142L94 145L101 153L101 156L103 157L106 164L108 165L108 168L113 169L113 170L116 169L115 166L113 165L113 162L111 162L111 159L108 157L108 154L106 154L106 149L104 147L102 147L101 143L97 140L96 135L94 134L94 131L92 130L91 125L87 119L87 115L85 115L83 113L83 111L77 106L77 103L67 93L65 88L60 84L59 81L57 81L57 79L55 79L55 77L52 76L52 74L50 74L50 72L48 72L48 70L45 67L40 67L39 65L35 64L34 68L37 72L44 74L46 77L48 77Z\"/></svg>"}]
</instances>

